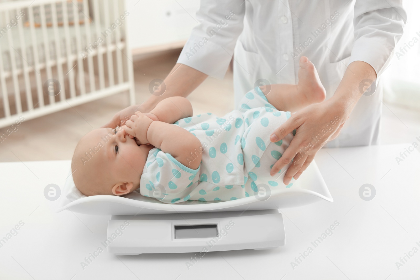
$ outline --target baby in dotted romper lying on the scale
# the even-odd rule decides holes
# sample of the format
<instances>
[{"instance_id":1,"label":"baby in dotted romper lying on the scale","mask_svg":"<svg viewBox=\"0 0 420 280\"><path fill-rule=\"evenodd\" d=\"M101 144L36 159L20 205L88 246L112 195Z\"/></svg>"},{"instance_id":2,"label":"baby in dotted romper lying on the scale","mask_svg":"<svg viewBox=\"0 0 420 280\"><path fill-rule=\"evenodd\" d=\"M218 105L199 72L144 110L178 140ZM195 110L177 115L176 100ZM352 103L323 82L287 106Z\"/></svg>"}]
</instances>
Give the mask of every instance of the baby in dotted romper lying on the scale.
<instances>
[{"instance_id":1,"label":"baby in dotted romper lying on the scale","mask_svg":"<svg viewBox=\"0 0 420 280\"><path fill-rule=\"evenodd\" d=\"M238 110L218 118L193 116L184 97L168 97L147 114L136 112L118 130L98 128L77 144L71 162L86 196L126 195L139 189L165 203L228 201L256 195L258 186L288 188L284 171L270 169L293 133L272 143L270 134L295 112L325 99L314 65L299 61L297 85L256 87Z\"/></svg>"}]
</instances>

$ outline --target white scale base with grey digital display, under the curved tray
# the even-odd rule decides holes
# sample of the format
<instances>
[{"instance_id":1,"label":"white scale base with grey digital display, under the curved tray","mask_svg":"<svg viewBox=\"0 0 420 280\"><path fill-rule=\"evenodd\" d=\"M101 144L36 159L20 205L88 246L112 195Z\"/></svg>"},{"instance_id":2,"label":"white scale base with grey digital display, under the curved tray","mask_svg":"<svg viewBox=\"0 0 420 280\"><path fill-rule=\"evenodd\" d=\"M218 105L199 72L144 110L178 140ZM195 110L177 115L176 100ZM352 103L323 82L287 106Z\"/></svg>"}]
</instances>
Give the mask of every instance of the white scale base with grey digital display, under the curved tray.
<instances>
[{"instance_id":1,"label":"white scale base with grey digital display, under the curved tray","mask_svg":"<svg viewBox=\"0 0 420 280\"><path fill-rule=\"evenodd\" d=\"M111 216L106 245L116 255L273 249L284 245L278 209Z\"/></svg>"}]
</instances>

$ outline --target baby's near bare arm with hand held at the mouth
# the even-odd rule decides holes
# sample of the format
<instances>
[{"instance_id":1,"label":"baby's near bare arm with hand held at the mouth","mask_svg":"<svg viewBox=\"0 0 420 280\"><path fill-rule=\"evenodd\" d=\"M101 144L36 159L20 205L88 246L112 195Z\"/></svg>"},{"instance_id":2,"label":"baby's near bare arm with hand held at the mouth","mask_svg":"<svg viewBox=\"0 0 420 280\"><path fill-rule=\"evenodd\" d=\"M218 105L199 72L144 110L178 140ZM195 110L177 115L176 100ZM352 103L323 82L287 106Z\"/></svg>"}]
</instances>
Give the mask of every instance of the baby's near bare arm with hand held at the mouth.
<instances>
[{"instance_id":1,"label":"baby's near bare arm with hand held at the mouth","mask_svg":"<svg viewBox=\"0 0 420 280\"><path fill-rule=\"evenodd\" d=\"M163 152L171 154L186 167L197 169L201 162L201 142L184 128L162 121L151 120L144 114L136 112L127 120L123 129L139 139L141 144L152 144ZM194 160L189 160L191 153ZM196 157L197 156L197 157Z\"/></svg>"}]
</instances>

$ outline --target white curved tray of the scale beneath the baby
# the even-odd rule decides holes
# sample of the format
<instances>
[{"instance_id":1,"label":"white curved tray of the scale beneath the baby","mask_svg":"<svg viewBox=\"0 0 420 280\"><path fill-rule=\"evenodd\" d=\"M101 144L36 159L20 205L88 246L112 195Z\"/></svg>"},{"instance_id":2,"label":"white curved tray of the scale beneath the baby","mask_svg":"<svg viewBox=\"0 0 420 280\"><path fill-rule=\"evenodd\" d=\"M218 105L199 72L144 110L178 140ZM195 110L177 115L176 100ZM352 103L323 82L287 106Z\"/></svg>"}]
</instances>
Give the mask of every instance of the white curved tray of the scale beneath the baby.
<instances>
[{"instance_id":1,"label":"white curved tray of the scale beneath the baby","mask_svg":"<svg viewBox=\"0 0 420 280\"><path fill-rule=\"evenodd\" d=\"M63 194L60 199L60 209L91 215L145 215L168 214L181 212L217 212L217 211L244 211L298 207L316 201L333 201L322 175L313 161L300 178L292 180L290 188L271 188L271 194L264 201L257 196L231 201L185 201L178 204L166 204L153 198L142 196L133 192L128 196L85 196L74 201L68 199L67 194L75 188L72 176L66 180ZM284 186L284 185L283 185Z\"/></svg>"}]
</instances>

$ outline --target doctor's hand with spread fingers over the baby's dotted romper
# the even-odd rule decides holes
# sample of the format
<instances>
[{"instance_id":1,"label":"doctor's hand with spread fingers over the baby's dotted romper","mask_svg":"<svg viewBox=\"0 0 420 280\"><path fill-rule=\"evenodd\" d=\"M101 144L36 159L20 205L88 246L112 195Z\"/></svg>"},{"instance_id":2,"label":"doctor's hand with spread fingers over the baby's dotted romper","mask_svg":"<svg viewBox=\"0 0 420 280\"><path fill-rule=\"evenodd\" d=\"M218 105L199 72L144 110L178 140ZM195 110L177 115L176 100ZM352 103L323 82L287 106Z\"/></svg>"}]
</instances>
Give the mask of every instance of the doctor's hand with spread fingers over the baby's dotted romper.
<instances>
[{"instance_id":1,"label":"doctor's hand with spread fingers over the baby's dotted romper","mask_svg":"<svg viewBox=\"0 0 420 280\"><path fill-rule=\"evenodd\" d=\"M288 185L292 178L299 178L319 149L339 135L349 114L342 107L329 99L291 114L291 117L270 136L271 142L277 142L296 129L289 147L273 165L270 175L276 175L292 161L283 183Z\"/></svg>"}]
</instances>

